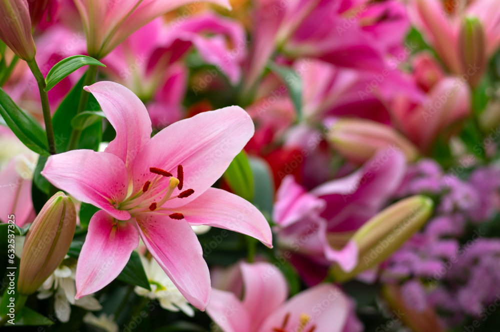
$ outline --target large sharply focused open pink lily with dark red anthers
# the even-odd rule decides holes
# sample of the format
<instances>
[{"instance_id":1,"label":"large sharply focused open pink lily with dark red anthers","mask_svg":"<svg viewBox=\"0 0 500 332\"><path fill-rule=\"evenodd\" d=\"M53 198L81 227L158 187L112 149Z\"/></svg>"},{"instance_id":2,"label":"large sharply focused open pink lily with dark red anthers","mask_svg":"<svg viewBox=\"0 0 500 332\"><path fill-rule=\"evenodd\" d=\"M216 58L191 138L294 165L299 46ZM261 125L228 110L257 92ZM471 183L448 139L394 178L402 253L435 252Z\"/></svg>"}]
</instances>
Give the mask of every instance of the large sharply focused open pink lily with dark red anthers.
<instances>
[{"instance_id":1,"label":"large sharply focused open pink lily with dark red anthers","mask_svg":"<svg viewBox=\"0 0 500 332\"><path fill-rule=\"evenodd\" d=\"M237 106L176 122L153 138L142 102L113 82L85 87L116 138L104 152L50 156L42 175L99 210L91 218L76 267L76 299L109 284L139 237L180 293L203 310L210 278L190 226L209 225L252 236L271 247L270 228L249 202L210 188L253 135ZM176 177L173 176L176 174Z\"/></svg>"}]
</instances>

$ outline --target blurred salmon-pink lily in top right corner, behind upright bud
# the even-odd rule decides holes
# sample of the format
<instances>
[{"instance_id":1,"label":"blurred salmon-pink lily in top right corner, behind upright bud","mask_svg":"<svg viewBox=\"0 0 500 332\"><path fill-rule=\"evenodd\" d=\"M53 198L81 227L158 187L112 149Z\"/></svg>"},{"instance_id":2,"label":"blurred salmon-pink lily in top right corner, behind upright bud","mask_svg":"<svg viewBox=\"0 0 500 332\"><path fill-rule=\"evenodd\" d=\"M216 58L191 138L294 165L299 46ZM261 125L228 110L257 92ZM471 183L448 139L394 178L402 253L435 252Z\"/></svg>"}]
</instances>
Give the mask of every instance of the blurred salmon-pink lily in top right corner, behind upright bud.
<instances>
[{"instance_id":1,"label":"blurred salmon-pink lily in top right corner, behind upright bud","mask_svg":"<svg viewBox=\"0 0 500 332\"><path fill-rule=\"evenodd\" d=\"M408 12L413 24L436 50L446 67L455 74L465 73L469 65L474 65L461 60L460 29L466 17L475 17L481 23L485 36L481 47L488 59L500 46L498 1L411 0ZM477 65L482 67L482 64Z\"/></svg>"}]
</instances>

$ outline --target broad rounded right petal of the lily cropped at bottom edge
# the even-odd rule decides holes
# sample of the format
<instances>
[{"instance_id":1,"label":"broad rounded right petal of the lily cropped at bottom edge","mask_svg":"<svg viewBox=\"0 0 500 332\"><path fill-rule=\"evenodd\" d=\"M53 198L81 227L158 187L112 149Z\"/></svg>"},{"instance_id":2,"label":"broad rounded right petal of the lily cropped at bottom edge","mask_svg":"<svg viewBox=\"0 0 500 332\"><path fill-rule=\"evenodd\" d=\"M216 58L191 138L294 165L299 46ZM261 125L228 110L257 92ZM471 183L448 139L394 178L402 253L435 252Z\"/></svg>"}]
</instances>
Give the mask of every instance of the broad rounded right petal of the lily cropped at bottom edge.
<instances>
[{"instance_id":1,"label":"broad rounded right petal of the lily cropped at bottom edge","mask_svg":"<svg viewBox=\"0 0 500 332\"><path fill-rule=\"evenodd\" d=\"M349 303L337 287L318 285L295 295L271 313L258 332L281 327L287 314L290 316L286 331L297 331L300 317L305 314L310 317L310 323L302 328L303 331L315 326L314 332L342 332L349 315Z\"/></svg>"}]
</instances>

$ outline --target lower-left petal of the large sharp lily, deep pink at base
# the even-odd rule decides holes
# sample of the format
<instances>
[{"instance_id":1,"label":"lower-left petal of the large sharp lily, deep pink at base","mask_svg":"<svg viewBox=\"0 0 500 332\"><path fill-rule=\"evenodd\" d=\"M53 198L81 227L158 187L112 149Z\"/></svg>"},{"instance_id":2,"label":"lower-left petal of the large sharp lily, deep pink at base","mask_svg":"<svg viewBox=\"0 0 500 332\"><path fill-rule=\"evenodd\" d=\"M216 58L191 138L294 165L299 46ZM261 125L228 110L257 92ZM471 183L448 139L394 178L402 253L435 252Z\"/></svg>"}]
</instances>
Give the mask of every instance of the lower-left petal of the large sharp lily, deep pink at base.
<instances>
[{"instance_id":1,"label":"lower-left petal of the large sharp lily, deep pink at base","mask_svg":"<svg viewBox=\"0 0 500 332\"><path fill-rule=\"evenodd\" d=\"M102 210L92 216L76 266L76 300L102 289L123 270L139 244L132 221L117 221Z\"/></svg>"}]
</instances>

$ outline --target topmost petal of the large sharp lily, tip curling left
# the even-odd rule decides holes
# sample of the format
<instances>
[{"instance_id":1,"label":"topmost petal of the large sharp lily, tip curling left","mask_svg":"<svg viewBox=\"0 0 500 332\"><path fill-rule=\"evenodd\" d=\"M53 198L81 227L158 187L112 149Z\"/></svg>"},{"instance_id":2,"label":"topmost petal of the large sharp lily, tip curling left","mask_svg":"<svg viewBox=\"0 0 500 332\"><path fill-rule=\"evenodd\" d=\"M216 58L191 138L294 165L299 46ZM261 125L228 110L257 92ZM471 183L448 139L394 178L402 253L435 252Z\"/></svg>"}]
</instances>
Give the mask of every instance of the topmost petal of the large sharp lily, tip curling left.
<instances>
[{"instance_id":1,"label":"topmost petal of the large sharp lily, tip curling left","mask_svg":"<svg viewBox=\"0 0 500 332\"><path fill-rule=\"evenodd\" d=\"M105 152L117 155L128 170L135 156L151 137L151 120L140 99L118 83L102 81L85 86L99 102L107 120L116 130Z\"/></svg>"}]
</instances>

